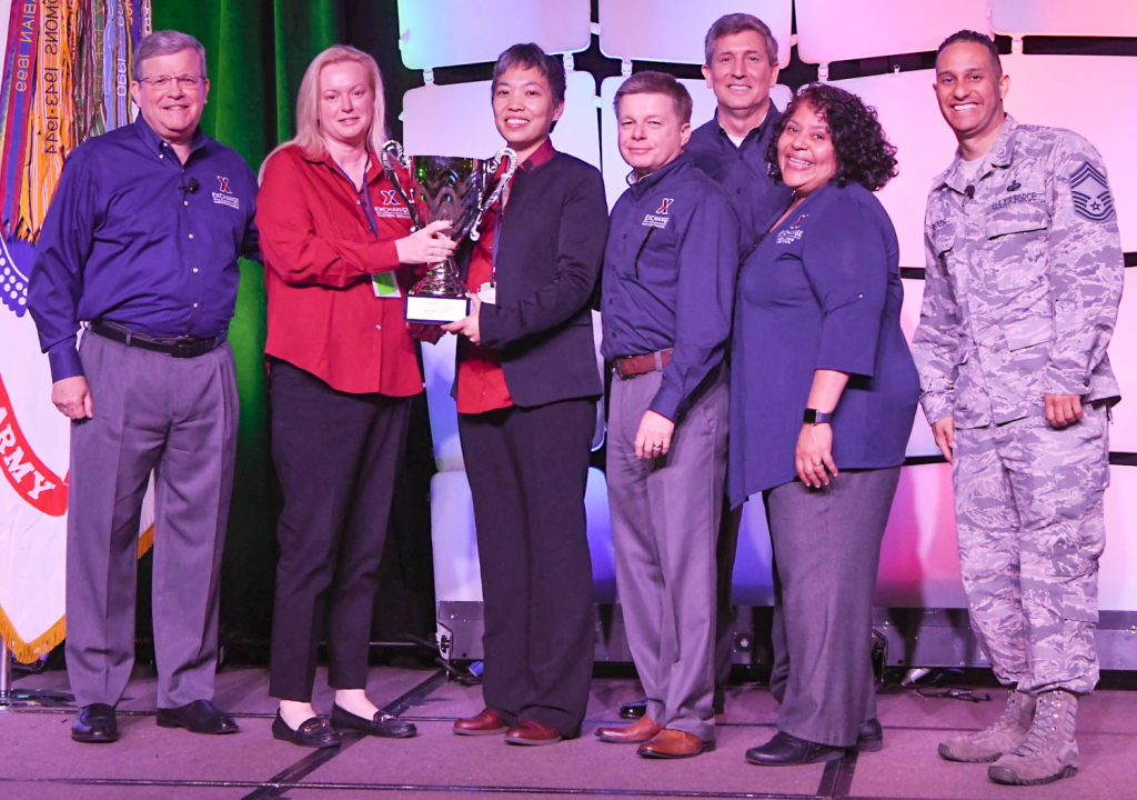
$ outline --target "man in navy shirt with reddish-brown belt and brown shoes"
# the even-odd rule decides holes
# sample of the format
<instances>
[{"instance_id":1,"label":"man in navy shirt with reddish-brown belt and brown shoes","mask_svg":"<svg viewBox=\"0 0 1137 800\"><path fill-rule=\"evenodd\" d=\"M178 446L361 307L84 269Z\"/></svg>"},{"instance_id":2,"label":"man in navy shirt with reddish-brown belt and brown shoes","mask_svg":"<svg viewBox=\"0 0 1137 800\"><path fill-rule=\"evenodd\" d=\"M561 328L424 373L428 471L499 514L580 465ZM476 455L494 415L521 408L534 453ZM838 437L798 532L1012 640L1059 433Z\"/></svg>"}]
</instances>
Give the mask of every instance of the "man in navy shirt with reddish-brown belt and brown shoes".
<instances>
[{"instance_id":1,"label":"man in navy shirt with reddish-brown belt and brown shoes","mask_svg":"<svg viewBox=\"0 0 1137 800\"><path fill-rule=\"evenodd\" d=\"M727 472L738 221L683 154L691 98L645 72L616 92L631 187L604 256L604 357L614 363L608 500L616 580L647 714L609 742L652 758L714 747L715 542Z\"/></svg>"}]
</instances>

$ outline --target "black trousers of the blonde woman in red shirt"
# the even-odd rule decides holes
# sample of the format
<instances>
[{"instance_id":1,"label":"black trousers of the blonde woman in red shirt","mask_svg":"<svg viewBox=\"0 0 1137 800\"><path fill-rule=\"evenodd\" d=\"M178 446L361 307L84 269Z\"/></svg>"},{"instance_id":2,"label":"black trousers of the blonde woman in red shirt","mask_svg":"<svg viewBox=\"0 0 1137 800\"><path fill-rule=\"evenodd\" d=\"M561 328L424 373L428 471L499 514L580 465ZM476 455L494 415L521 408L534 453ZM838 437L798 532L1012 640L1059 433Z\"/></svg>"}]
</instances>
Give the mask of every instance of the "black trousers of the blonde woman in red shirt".
<instances>
[{"instance_id":1,"label":"black trousers of the blonde woman in red shirt","mask_svg":"<svg viewBox=\"0 0 1137 800\"><path fill-rule=\"evenodd\" d=\"M273 363L268 394L284 494L269 693L307 702L325 636L329 684L366 685L379 562L410 398L337 391L282 361Z\"/></svg>"}]
</instances>

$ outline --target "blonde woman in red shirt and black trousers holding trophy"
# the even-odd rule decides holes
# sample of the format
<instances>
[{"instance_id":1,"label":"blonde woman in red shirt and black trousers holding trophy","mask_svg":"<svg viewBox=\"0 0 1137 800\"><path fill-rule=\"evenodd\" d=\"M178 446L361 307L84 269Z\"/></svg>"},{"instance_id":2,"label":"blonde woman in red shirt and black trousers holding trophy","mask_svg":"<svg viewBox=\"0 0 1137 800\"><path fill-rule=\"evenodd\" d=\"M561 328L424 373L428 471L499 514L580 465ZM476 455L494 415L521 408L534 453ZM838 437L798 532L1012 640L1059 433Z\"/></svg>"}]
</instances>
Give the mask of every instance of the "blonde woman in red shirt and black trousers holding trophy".
<instances>
[{"instance_id":1,"label":"blonde woman in red shirt and black trousers holding trophy","mask_svg":"<svg viewBox=\"0 0 1137 800\"><path fill-rule=\"evenodd\" d=\"M423 390L404 322L406 264L454 242L433 223L410 233L377 152L383 84L371 56L335 46L300 84L297 137L265 160L257 226L268 295L273 461L284 494L277 528L269 691L273 736L334 747L340 731L415 735L364 692L371 611L410 397ZM406 180L404 176L402 180ZM312 708L326 633L331 719Z\"/></svg>"}]
</instances>

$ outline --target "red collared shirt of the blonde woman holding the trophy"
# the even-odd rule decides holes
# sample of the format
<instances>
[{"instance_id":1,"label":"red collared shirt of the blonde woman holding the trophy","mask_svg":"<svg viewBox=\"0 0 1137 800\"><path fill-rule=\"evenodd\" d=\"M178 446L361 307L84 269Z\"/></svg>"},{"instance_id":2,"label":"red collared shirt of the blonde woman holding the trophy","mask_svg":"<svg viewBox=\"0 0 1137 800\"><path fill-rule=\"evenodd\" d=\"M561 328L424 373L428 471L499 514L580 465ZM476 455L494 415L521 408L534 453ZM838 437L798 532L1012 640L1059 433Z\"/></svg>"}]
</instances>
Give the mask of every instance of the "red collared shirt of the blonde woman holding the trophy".
<instances>
[{"instance_id":1,"label":"red collared shirt of the blonde woman holding the trophy","mask_svg":"<svg viewBox=\"0 0 1137 800\"><path fill-rule=\"evenodd\" d=\"M406 189L407 173L396 173ZM395 272L410 288L395 241L410 211L372 154L358 190L327 155L285 147L265 164L257 226L265 253L265 354L340 391L407 397L423 390L404 300L376 297L372 275ZM370 200L371 214L367 213Z\"/></svg>"}]
</instances>

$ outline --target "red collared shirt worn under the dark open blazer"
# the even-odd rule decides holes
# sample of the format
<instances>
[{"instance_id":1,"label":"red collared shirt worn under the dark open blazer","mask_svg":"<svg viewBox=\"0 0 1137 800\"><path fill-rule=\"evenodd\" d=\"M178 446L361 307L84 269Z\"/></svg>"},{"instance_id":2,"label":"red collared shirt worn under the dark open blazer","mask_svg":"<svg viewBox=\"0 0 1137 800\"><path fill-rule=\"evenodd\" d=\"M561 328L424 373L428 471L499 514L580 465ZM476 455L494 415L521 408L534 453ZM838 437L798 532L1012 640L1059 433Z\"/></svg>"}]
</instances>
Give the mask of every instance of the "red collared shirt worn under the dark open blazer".
<instances>
[{"instance_id":1,"label":"red collared shirt worn under the dark open blazer","mask_svg":"<svg viewBox=\"0 0 1137 800\"><path fill-rule=\"evenodd\" d=\"M547 164L553 159L555 152L553 141L546 139L545 143L517 167L517 172L536 170L542 164ZM498 167L497 174L493 175L495 183L504 171L505 165L503 164ZM516 173L514 173L515 178ZM511 185L514 179L509 179ZM500 203L482 216L481 238L474 246L473 255L470 258L470 271L466 275L471 291L478 291L483 283L492 281L496 284L497 282L497 275L493 271L493 247L498 233L498 208L506 205L508 192L507 188ZM475 345L466 337L459 337L457 390L459 414L480 414L484 411L506 409L513 405L509 388L505 382L505 370L501 369L501 352L484 345Z\"/></svg>"}]
</instances>

